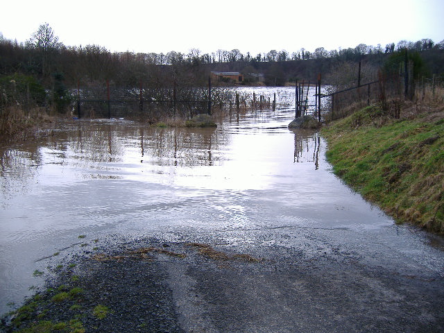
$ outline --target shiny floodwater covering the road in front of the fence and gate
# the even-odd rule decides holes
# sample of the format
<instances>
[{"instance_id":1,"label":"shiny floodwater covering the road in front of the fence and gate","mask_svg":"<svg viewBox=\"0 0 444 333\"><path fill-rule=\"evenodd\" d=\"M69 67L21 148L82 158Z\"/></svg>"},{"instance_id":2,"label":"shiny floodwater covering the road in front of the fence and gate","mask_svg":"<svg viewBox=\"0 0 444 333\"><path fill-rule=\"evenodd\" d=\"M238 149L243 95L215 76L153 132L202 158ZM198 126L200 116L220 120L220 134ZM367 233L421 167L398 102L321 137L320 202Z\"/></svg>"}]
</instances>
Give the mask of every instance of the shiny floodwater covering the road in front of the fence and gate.
<instances>
[{"instance_id":1,"label":"shiny floodwater covering the road in front of the fence and gate","mask_svg":"<svg viewBox=\"0 0 444 333\"><path fill-rule=\"evenodd\" d=\"M42 284L35 270L48 273L105 237L216 235L313 255L342 247L442 276L442 239L395 225L343 185L325 140L290 131L293 118L290 104L234 114L216 129L68 121L41 142L1 147L0 312Z\"/></svg>"}]
</instances>

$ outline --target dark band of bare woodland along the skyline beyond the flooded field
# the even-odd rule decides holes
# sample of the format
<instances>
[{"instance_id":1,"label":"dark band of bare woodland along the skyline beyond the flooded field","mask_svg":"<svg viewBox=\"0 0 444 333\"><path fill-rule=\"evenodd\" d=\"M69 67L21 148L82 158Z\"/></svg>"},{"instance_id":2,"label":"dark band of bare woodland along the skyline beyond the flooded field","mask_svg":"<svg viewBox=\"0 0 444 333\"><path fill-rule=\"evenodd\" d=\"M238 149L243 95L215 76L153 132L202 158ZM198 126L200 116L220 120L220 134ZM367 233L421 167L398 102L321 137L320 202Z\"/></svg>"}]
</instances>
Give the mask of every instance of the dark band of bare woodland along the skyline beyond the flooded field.
<instances>
[{"instance_id":1,"label":"dark band of bare woodland along the skyline beyond the flooded field","mask_svg":"<svg viewBox=\"0 0 444 333\"><path fill-rule=\"evenodd\" d=\"M322 74L323 83L330 83L337 80L335 73L339 67L358 62L362 63L364 82L405 50L420 58L421 70L417 76L444 76L444 40L438 43L429 39L402 40L385 46L359 44L353 49L332 51L323 47L313 52L303 48L292 53L271 50L257 55L243 54L237 49L205 54L198 49L187 54L111 53L99 45L65 46L49 24L42 24L25 43L0 35L0 89L6 89L13 80L17 89L21 84L31 90L52 89L53 96L62 99L71 88L103 86L106 82L118 87L205 86L211 71L264 74L264 85L288 85L296 80L313 82L318 74ZM396 66L399 64L395 62L394 70ZM250 82L246 76L241 84L258 83Z\"/></svg>"}]
</instances>

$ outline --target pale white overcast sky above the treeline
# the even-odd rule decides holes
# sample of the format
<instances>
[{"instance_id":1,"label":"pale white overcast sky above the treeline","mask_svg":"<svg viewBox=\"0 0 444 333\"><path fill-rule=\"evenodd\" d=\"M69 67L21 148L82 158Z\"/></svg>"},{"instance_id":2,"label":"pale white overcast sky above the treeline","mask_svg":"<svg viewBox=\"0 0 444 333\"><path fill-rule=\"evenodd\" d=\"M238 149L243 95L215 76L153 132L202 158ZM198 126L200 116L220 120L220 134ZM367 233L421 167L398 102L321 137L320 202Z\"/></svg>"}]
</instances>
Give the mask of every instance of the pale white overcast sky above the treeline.
<instances>
[{"instance_id":1,"label":"pale white overcast sky above the treeline","mask_svg":"<svg viewBox=\"0 0 444 333\"><path fill-rule=\"evenodd\" d=\"M0 33L28 40L47 22L65 46L109 51L289 53L444 40L444 0L2 0Z\"/></svg>"}]
</instances>

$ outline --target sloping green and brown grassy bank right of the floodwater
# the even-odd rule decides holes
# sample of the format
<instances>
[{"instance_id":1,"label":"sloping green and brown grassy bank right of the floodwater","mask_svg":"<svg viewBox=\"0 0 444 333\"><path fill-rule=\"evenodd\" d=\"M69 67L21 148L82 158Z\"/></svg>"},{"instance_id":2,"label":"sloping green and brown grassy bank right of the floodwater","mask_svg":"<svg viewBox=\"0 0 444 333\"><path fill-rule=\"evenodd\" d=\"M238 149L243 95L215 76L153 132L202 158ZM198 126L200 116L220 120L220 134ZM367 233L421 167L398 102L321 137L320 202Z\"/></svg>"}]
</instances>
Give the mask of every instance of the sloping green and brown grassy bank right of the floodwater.
<instances>
[{"instance_id":1,"label":"sloping green and brown grassy bank right of the floodwater","mask_svg":"<svg viewBox=\"0 0 444 333\"><path fill-rule=\"evenodd\" d=\"M444 234L444 108L378 105L323 129L334 173L398 223Z\"/></svg>"}]
</instances>

